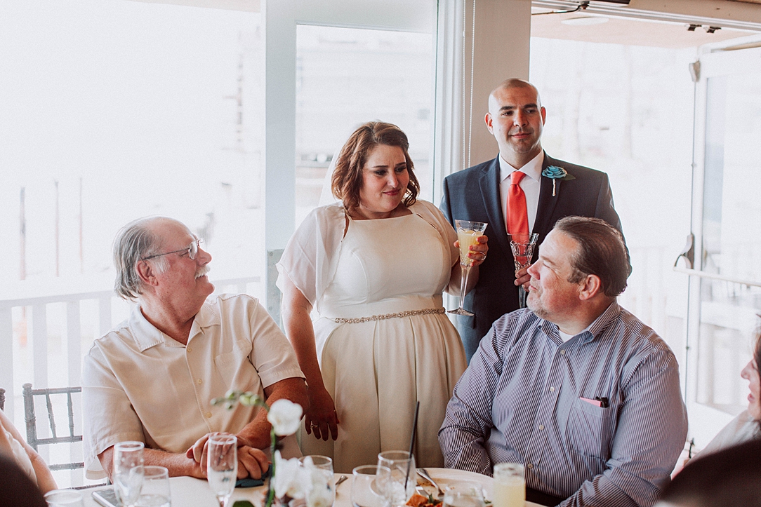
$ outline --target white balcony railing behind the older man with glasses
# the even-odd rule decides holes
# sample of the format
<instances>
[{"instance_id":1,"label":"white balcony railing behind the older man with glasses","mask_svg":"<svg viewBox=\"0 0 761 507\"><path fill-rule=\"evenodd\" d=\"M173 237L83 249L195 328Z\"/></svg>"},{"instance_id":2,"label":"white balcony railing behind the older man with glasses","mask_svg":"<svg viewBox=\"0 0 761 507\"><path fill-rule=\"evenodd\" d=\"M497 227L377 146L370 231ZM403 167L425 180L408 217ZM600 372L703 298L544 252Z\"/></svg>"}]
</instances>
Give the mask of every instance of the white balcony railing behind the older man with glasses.
<instances>
[{"instance_id":1,"label":"white balcony railing behind the older man with glasses","mask_svg":"<svg viewBox=\"0 0 761 507\"><path fill-rule=\"evenodd\" d=\"M263 296L260 277L212 281L215 293ZM6 391L5 414L22 435L25 426L21 386L25 382L31 382L34 388L80 385L81 361L90 344L129 316L133 303L120 299L107 287L104 280L59 279L46 282L44 288L30 282L2 287L0 387ZM75 421L81 433L78 412ZM40 437L46 436L44 421L37 425L37 431ZM81 444L68 447L51 451L42 446L40 455L48 463L50 458L81 461ZM81 486L84 482L81 470L56 472L56 480L59 486Z\"/></svg>"}]
</instances>

